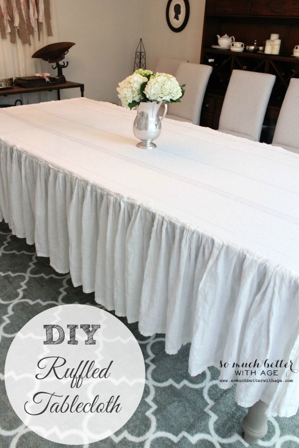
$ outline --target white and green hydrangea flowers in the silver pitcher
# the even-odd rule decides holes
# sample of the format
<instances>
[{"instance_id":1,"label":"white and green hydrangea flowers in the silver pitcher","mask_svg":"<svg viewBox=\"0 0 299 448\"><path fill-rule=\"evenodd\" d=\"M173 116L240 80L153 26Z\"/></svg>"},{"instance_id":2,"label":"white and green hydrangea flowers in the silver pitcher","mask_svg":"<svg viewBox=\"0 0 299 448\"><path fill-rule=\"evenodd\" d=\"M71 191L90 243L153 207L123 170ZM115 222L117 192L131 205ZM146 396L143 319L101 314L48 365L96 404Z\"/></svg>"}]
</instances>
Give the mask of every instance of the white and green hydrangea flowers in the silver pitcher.
<instances>
[{"instance_id":1,"label":"white and green hydrangea flowers in the silver pitcher","mask_svg":"<svg viewBox=\"0 0 299 448\"><path fill-rule=\"evenodd\" d=\"M179 103L184 87L172 75L139 69L120 82L117 91L122 105L133 109L142 102Z\"/></svg>"}]
</instances>

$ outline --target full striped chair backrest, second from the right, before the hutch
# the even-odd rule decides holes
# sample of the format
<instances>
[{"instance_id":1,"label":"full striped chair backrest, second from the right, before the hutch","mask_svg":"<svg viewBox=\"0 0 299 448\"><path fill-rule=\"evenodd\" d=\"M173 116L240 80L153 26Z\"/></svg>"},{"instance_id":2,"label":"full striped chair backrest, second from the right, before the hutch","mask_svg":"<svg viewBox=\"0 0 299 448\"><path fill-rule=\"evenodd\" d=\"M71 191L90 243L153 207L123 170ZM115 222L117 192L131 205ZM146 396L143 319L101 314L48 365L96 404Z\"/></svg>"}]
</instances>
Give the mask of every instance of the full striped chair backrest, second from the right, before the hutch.
<instances>
[{"instance_id":1,"label":"full striped chair backrest, second from the right, before the hutch","mask_svg":"<svg viewBox=\"0 0 299 448\"><path fill-rule=\"evenodd\" d=\"M259 141L275 79L269 73L233 70L218 130Z\"/></svg>"}]
</instances>

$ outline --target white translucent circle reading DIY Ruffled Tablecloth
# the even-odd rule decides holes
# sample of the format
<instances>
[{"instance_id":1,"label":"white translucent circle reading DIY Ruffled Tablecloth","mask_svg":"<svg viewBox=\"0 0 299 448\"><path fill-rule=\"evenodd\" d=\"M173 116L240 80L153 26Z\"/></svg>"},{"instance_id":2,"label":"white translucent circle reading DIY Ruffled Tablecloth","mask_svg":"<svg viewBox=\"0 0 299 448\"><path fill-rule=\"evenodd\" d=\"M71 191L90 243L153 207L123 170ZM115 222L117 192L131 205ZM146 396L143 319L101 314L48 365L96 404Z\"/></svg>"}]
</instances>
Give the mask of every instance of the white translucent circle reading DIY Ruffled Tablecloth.
<instances>
[{"instance_id":1,"label":"white translucent circle reading DIY Ruffled Tablecloth","mask_svg":"<svg viewBox=\"0 0 299 448\"><path fill-rule=\"evenodd\" d=\"M14 337L5 387L18 417L44 439L84 445L119 430L136 411L145 363L130 330L110 313L62 305Z\"/></svg>"}]
</instances>

